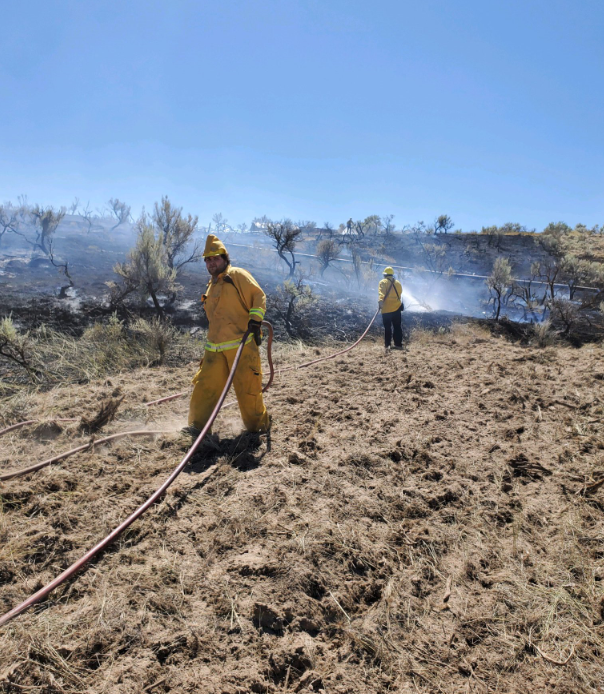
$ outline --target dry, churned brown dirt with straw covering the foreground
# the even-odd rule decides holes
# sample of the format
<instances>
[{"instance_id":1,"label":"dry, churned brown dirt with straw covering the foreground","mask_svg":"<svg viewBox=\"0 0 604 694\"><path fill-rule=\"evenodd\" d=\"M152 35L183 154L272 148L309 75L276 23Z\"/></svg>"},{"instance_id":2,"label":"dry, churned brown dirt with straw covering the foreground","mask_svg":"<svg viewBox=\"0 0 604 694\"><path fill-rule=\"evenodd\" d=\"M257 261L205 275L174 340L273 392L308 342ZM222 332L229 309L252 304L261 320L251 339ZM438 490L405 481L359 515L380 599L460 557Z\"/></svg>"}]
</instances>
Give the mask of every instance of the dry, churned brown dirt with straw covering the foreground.
<instances>
[{"instance_id":1,"label":"dry, churned brown dirt with straw covering the foreground","mask_svg":"<svg viewBox=\"0 0 604 694\"><path fill-rule=\"evenodd\" d=\"M280 367L328 354L277 345ZM601 692L601 345L538 349L477 325L366 342L277 373L270 436L215 426L166 496L2 628L0 692ZM91 417L95 448L0 486L5 612L104 537L188 449L195 364L23 396L4 425ZM100 436L98 434L97 436ZM0 471L84 443L0 438Z\"/></svg>"}]
</instances>

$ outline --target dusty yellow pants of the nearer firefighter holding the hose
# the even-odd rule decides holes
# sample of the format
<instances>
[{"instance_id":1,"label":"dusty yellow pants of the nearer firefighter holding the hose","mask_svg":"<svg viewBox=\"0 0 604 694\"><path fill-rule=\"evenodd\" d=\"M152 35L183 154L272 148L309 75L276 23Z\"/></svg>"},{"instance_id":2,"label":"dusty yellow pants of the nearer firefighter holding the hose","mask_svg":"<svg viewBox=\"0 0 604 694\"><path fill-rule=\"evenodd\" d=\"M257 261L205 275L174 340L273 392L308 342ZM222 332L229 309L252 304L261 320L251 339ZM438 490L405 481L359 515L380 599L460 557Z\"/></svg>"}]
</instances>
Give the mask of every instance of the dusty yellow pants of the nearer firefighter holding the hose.
<instances>
[{"instance_id":1,"label":"dusty yellow pants of the nearer firefighter holding the hose","mask_svg":"<svg viewBox=\"0 0 604 694\"><path fill-rule=\"evenodd\" d=\"M236 349L205 351L193 379L189 426L201 430L206 425L227 382L236 354ZM269 418L262 400L262 366L258 346L253 340L243 348L233 387L245 428L248 431L266 431Z\"/></svg>"}]
</instances>

